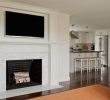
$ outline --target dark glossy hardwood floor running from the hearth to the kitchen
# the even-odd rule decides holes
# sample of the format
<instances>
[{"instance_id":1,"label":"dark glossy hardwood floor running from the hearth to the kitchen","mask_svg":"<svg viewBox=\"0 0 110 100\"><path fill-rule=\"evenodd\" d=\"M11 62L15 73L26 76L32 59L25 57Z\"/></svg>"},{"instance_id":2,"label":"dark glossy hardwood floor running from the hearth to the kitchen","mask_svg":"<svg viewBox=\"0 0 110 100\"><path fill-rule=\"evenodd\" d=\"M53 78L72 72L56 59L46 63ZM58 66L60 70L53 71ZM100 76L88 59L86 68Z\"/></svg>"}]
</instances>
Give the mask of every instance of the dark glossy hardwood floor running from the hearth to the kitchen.
<instances>
[{"instance_id":1,"label":"dark glossy hardwood floor running from the hearth to the kitchen","mask_svg":"<svg viewBox=\"0 0 110 100\"><path fill-rule=\"evenodd\" d=\"M7 98L5 100L26 100L30 99L33 97L39 97L39 96L44 96L44 95L49 95L52 93L57 93L57 92L62 92L70 89L75 89L79 87L85 87L93 84L104 84L109 86L109 73L108 73L107 67L103 67L101 70L98 72L95 72L94 70L92 72L87 73L86 71L83 72L81 75L80 72L77 72L75 74L70 74L70 82L61 82L60 85L63 85L63 88L60 89L53 89L53 90L48 90L48 91L43 91L43 92L38 92L38 93L32 93L32 94L27 94L27 95L22 95L22 96L16 96L12 98Z\"/></svg>"}]
</instances>

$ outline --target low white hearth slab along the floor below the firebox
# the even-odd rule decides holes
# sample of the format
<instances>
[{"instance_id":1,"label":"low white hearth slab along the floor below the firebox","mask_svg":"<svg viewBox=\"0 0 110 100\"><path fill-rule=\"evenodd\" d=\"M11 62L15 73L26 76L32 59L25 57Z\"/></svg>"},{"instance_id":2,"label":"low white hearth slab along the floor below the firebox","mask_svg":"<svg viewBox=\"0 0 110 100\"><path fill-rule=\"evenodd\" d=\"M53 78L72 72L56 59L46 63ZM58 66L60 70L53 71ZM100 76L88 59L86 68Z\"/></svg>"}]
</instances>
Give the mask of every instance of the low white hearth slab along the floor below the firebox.
<instances>
[{"instance_id":1,"label":"low white hearth slab along the floor below the firebox","mask_svg":"<svg viewBox=\"0 0 110 100\"><path fill-rule=\"evenodd\" d=\"M6 92L0 93L0 99L10 98L10 97L19 96L19 95L26 95L26 94L36 93L41 91L43 93L43 91L57 89L57 88L63 88L63 86L39 85L39 86L32 86L32 87L21 88L21 89L8 90Z\"/></svg>"}]
</instances>

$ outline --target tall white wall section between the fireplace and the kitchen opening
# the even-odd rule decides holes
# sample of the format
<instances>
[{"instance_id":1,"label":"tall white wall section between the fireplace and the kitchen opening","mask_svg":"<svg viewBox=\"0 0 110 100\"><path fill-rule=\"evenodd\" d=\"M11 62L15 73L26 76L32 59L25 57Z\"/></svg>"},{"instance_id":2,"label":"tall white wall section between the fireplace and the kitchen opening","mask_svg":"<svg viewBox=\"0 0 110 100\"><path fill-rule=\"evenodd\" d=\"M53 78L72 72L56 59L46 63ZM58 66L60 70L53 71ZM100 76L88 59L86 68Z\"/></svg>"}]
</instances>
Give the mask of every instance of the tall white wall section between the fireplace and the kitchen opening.
<instances>
[{"instance_id":1,"label":"tall white wall section between the fireplace and the kitchen opening","mask_svg":"<svg viewBox=\"0 0 110 100\"><path fill-rule=\"evenodd\" d=\"M52 13L51 38L51 83L69 81L69 15ZM56 20L55 20L56 19ZM53 74L54 73L54 74Z\"/></svg>"}]
</instances>

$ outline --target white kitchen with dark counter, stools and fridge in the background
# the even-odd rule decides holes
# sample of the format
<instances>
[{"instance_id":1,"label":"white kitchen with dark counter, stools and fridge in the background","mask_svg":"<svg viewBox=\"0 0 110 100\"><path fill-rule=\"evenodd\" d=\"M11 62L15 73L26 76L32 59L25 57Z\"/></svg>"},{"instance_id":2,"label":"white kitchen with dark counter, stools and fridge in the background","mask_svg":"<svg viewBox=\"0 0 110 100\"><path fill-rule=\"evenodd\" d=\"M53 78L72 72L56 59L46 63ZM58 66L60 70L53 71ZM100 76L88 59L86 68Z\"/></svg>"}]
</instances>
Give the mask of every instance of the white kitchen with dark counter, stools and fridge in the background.
<instances>
[{"instance_id":1,"label":"white kitchen with dark counter, stools and fridge in the background","mask_svg":"<svg viewBox=\"0 0 110 100\"><path fill-rule=\"evenodd\" d=\"M92 30L70 31L70 73L101 72L108 65L108 36Z\"/></svg>"}]
</instances>

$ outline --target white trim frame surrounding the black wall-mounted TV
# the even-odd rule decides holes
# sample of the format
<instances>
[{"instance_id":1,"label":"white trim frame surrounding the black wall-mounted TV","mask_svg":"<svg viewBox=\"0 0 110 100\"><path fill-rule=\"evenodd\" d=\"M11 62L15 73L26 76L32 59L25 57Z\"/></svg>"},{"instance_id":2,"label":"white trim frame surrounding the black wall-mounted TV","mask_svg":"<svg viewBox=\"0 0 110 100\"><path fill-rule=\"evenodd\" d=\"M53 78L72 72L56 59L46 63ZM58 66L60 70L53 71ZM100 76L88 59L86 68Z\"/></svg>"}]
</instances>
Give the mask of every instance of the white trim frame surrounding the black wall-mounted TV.
<instances>
[{"instance_id":1,"label":"white trim frame surrounding the black wall-mounted TV","mask_svg":"<svg viewBox=\"0 0 110 100\"><path fill-rule=\"evenodd\" d=\"M11 12L18 12L18 13L24 13L24 14L29 14L29 15L38 15L38 16L43 16L44 17L44 38L39 38L39 37L28 37L28 36L8 36L6 35L6 31L5 31L5 11L11 11ZM45 42L48 42L48 36L49 36L49 15L48 14L45 14L45 13L38 13L37 11L36 12L29 12L29 11L24 11L24 10L16 10L16 9L9 9L9 8L2 8L0 7L0 12L1 12L1 17L0 17L0 20L2 21L1 22L1 34L0 34L0 38L1 40L0 41L6 41L8 40L9 41L12 41L12 40L26 40L26 41L34 41L34 42L38 42L38 41L45 41ZM14 42L14 41L13 41Z\"/></svg>"}]
</instances>

